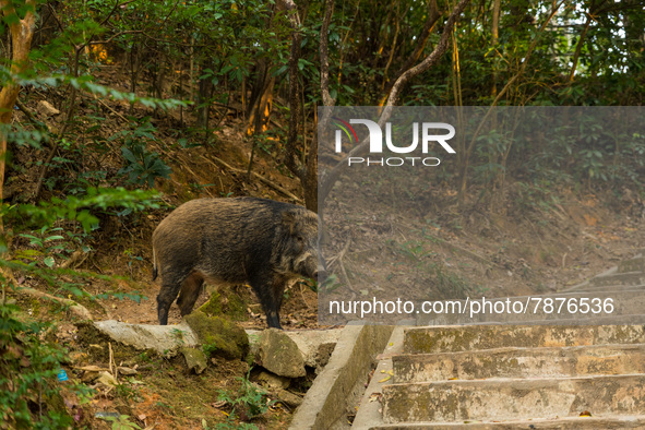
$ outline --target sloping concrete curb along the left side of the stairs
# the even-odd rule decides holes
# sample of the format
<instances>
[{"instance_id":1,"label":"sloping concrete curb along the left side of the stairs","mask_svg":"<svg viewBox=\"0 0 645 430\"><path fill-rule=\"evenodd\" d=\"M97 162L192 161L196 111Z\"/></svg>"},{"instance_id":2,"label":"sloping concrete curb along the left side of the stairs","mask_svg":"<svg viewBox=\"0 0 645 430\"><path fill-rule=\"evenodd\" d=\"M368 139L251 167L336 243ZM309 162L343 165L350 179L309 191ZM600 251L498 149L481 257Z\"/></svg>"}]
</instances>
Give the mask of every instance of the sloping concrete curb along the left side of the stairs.
<instances>
[{"instance_id":1,"label":"sloping concrete curb along the left side of the stairs","mask_svg":"<svg viewBox=\"0 0 645 430\"><path fill-rule=\"evenodd\" d=\"M393 330L392 325L346 325L327 366L296 409L289 429L329 429L343 418L356 382L370 371Z\"/></svg>"}]
</instances>

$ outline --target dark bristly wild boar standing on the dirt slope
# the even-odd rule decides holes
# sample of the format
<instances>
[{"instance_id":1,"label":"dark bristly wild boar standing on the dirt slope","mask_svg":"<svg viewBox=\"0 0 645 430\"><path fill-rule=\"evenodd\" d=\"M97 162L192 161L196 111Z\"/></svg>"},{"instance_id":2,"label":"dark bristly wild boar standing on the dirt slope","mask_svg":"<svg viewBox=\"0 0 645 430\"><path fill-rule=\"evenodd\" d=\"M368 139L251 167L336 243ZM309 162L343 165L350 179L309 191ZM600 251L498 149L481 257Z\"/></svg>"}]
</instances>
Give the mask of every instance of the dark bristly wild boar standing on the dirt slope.
<instances>
[{"instance_id":1,"label":"dark bristly wild boar standing on the dirt slope","mask_svg":"<svg viewBox=\"0 0 645 430\"><path fill-rule=\"evenodd\" d=\"M282 329L285 288L300 276L324 278L318 251L319 218L289 203L255 198L196 199L172 211L153 234L153 280L159 324L177 298L190 313L205 280L249 284L262 303L270 327Z\"/></svg>"}]
</instances>

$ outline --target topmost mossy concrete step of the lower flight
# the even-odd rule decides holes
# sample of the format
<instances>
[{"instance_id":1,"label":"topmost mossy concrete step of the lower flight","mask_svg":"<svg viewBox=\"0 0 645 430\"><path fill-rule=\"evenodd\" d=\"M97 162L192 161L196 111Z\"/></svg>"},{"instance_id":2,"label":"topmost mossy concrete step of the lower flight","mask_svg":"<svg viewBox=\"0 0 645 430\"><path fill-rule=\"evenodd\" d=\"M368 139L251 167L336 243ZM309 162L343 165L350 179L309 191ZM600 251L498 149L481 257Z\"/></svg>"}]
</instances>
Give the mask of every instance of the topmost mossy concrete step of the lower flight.
<instances>
[{"instance_id":1,"label":"topmost mossy concrete step of the lower flight","mask_svg":"<svg viewBox=\"0 0 645 430\"><path fill-rule=\"evenodd\" d=\"M474 351L504 347L645 344L643 325L457 325L405 330L404 354Z\"/></svg>"}]
</instances>

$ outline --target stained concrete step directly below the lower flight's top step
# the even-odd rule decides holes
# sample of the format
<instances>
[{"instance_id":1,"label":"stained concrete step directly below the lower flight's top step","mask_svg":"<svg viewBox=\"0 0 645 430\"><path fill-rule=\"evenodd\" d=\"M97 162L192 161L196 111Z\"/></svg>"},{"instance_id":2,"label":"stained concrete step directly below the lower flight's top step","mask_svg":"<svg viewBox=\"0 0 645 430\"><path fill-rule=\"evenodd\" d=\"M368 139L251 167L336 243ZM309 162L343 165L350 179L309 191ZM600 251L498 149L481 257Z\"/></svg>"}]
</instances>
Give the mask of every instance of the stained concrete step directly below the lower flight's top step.
<instances>
[{"instance_id":1,"label":"stained concrete step directly below the lower flight's top step","mask_svg":"<svg viewBox=\"0 0 645 430\"><path fill-rule=\"evenodd\" d=\"M645 373L645 344L495 348L392 357L394 383Z\"/></svg>"}]
</instances>

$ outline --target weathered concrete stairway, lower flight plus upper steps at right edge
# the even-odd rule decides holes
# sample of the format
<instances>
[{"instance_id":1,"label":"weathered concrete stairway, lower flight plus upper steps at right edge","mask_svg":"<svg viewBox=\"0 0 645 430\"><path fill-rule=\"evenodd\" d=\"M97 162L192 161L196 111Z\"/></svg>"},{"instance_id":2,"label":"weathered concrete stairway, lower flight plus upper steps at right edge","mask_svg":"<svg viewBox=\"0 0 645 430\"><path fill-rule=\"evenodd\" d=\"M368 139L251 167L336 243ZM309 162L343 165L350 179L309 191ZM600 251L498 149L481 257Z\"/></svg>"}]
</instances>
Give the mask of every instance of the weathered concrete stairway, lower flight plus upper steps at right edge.
<instances>
[{"instance_id":1,"label":"weathered concrete stairway, lower flight plus upper steps at right edge","mask_svg":"<svg viewBox=\"0 0 645 430\"><path fill-rule=\"evenodd\" d=\"M638 255L562 294L638 309L644 284ZM643 318L605 320L397 327L353 429L645 429Z\"/></svg>"}]
</instances>

